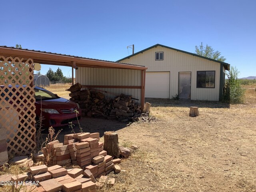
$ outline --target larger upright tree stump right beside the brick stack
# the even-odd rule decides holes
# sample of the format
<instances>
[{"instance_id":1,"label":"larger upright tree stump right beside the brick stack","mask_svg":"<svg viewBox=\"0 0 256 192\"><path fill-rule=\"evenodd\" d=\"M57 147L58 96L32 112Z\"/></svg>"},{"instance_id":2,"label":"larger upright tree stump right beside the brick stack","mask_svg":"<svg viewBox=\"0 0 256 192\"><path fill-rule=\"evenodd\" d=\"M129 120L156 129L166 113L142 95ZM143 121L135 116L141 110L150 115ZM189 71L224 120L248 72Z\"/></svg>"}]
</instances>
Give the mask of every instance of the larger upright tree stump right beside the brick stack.
<instances>
[{"instance_id":1,"label":"larger upright tree stump right beside the brick stack","mask_svg":"<svg viewBox=\"0 0 256 192\"><path fill-rule=\"evenodd\" d=\"M114 131L104 132L104 150L113 158L119 157L118 134Z\"/></svg>"}]
</instances>

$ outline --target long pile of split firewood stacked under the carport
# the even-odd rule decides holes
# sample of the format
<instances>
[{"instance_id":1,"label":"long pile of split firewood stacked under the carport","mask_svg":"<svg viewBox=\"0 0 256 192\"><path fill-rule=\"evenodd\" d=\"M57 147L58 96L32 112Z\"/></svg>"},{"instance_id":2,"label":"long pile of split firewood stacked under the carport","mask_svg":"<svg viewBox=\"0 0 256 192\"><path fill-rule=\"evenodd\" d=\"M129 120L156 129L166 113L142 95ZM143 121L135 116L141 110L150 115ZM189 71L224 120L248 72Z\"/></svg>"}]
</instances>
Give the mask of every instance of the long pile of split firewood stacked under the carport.
<instances>
[{"instance_id":1,"label":"long pile of split firewood stacked under the carport","mask_svg":"<svg viewBox=\"0 0 256 192\"><path fill-rule=\"evenodd\" d=\"M70 100L79 104L82 116L103 117L107 119L132 120L141 114L141 106L132 96L117 95L114 99L105 98L99 90L84 89L79 83L71 86L67 91L71 93Z\"/></svg>"}]
</instances>

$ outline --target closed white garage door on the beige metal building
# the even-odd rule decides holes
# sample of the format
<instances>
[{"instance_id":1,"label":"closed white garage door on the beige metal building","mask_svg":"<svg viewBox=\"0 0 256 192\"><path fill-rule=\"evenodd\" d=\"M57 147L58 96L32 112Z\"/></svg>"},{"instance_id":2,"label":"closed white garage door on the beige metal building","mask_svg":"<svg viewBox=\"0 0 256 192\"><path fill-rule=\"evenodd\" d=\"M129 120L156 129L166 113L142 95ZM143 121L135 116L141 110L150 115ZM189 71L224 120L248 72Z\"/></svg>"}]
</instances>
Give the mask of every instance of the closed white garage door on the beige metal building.
<instances>
[{"instance_id":1,"label":"closed white garage door on the beige metal building","mask_svg":"<svg viewBox=\"0 0 256 192\"><path fill-rule=\"evenodd\" d=\"M145 97L169 98L170 72L146 72Z\"/></svg>"}]
</instances>

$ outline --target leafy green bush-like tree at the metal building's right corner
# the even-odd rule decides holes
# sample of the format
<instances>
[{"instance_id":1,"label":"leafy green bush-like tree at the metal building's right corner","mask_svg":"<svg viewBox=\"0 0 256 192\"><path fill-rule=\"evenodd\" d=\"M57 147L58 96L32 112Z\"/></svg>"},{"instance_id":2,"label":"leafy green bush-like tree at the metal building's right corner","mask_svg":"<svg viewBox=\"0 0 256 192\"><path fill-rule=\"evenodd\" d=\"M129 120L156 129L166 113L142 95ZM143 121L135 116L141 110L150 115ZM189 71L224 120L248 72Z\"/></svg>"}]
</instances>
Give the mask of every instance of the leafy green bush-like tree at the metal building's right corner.
<instances>
[{"instance_id":1,"label":"leafy green bush-like tree at the metal building's right corner","mask_svg":"<svg viewBox=\"0 0 256 192\"><path fill-rule=\"evenodd\" d=\"M242 103L244 101L245 90L238 79L239 74L238 69L231 66L230 71L227 73L228 80L224 88L224 102Z\"/></svg>"}]
</instances>

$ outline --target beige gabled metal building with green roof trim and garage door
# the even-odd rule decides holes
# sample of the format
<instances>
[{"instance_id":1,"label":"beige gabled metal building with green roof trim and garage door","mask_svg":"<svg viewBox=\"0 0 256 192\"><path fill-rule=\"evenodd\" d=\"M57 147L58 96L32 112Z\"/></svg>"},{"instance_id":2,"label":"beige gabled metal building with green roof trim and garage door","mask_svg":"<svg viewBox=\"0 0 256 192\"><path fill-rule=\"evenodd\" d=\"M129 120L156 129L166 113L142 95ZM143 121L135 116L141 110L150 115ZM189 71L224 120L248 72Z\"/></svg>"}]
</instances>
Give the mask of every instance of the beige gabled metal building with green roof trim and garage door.
<instances>
[{"instance_id":1,"label":"beige gabled metal building with green roof trim and garage door","mask_svg":"<svg viewBox=\"0 0 256 192\"><path fill-rule=\"evenodd\" d=\"M147 66L145 97L218 101L230 64L156 44L118 60Z\"/></svg>"}]
</instances>

